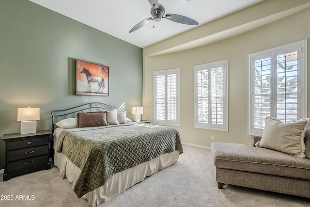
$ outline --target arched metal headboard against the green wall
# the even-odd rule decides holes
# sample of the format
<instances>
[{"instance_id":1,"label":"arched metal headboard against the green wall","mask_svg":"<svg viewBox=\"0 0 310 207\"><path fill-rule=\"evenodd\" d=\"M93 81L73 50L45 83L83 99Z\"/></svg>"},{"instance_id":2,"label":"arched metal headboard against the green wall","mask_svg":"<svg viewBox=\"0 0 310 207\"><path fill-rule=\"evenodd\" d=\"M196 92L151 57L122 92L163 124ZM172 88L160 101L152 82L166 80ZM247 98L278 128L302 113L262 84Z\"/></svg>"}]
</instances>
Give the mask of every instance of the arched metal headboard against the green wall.
<instances>
[{"instance_id":1,"label":"arched metal headboard against the green wall","mask_svg":"<svg viewBox=\"0 0 310 207\"><path fill-rule=\"evenodd\" d=\"M108 104L98 102L87 103L80 106L72 107L70 109L50 111L52 114L52 132L54 132L55 123L65 118L75 118L77 117L78 112L91 112L98 110L111 111L113 109L116 109L117 111L126 111L126 109L120 109L110 106Z\"/></svg>"}]
</instances>

